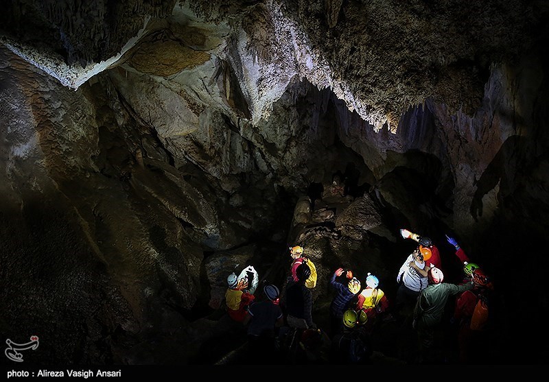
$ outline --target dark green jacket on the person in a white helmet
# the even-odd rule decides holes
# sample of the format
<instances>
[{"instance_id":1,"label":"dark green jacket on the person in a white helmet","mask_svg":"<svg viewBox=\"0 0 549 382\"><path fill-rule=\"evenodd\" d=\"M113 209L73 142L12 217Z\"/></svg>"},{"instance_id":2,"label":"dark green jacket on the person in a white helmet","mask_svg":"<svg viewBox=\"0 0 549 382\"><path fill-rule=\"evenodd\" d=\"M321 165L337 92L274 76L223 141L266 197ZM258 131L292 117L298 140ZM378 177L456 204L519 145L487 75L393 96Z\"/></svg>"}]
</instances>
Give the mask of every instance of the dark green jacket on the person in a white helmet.
<instances>
[{"instance_id":1,"label":"dark green jacket on the person in a white helmet","mask_svg":"<svg viewBox=\"0 0 549 382\"><path fill-rule=\"evenodd\" d=\"M441 322L444 307L450 295L459 294L473 288L473 284L454 285L449 283L430 284L421 291L414 308L414 321L421 327L429 327Z\"/></svg>"}]
</instances>

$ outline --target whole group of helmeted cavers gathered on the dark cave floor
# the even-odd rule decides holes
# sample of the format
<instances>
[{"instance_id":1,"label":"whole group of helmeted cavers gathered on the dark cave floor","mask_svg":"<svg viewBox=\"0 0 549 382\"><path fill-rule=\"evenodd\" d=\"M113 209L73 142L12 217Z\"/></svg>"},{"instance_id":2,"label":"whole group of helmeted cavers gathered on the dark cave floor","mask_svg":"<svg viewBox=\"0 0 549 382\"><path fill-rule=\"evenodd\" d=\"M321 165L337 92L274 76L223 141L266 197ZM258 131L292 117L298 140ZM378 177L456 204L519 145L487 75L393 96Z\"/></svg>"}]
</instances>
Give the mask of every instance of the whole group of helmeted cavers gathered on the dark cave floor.
<instances>
[{"instance_id":1,"label":"whole group of helmeted cavers gathered on the dark cave floor","mask_svg":"<svg viewBox=\"0 0 549 382\"><path fill-rule=\"evenodd\" d=\"M342 267L331 276L334 298L329 307L329 331L317 328L312 318L312 289L317 274L314 263L301 246L290 247L292 265L284 293L264 283L262 298L255 298L257 272L246 267L240 275L227 278L226 311L244 324L247 333L246 362L273 363L370 363L371 335L376 323L401 322L416 333L414 363L440 363L442 327L449 317L454 327L458 361L471 363L471 348L488 320L489 294L493 285L476 263L472 263L456 239L446 236L463 264L460 283L444 282L441 256L428 237L401 229L404 239L417 242L417 248L397 274L394 303L382 289L379 279L368 273L364 285L351 270ZM450 296L454 296L448 304ZM455 301L455 303L454 303ZM392 306L390 306L392 305Z\"/></svg>"}]
</instances>

